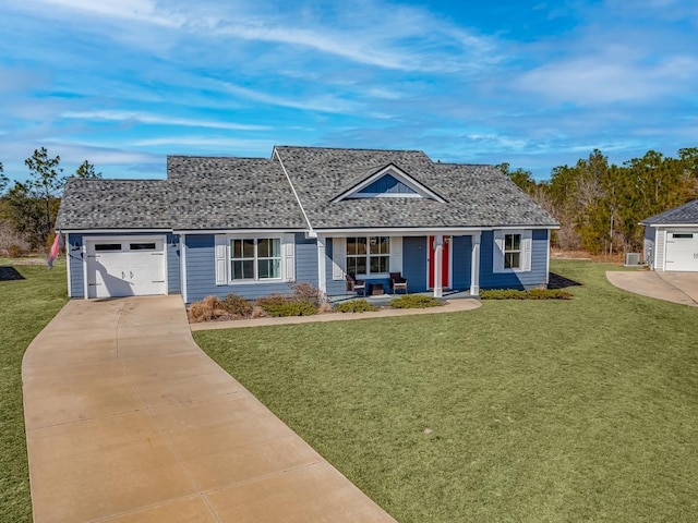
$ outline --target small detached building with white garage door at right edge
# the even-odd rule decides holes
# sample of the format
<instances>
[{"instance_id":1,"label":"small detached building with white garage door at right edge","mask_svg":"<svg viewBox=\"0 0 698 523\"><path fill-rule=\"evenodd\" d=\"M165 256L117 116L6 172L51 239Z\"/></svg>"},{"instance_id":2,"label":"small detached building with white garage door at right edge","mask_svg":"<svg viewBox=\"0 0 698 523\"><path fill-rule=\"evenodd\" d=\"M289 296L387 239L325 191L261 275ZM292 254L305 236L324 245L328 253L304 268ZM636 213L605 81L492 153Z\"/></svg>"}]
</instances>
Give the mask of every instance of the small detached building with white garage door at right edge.
<instances>
[{"instance_id":1,"label":"small detached building with white garage door at right edge","mask_svg":"<svg viewBox=\"0 0 698 523\"><path fill-rule=\"evenodd\" d=\"M698 199L642 220L652 270L698 270Z\"/></svg>"}]
</instances>

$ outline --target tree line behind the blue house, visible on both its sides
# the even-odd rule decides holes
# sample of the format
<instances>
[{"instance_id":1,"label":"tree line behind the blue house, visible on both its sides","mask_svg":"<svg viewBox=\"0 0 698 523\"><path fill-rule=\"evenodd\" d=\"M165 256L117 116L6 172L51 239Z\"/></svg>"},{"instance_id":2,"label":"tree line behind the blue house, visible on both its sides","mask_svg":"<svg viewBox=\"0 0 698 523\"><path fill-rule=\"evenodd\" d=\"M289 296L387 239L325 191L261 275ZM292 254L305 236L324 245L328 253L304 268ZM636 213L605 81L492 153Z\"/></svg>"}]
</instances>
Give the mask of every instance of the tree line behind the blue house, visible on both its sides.
<instances>
[{"instance_id":1,"label":"tree line behind the blue house, visible on both its sides","mask_svg":"<svg viewBox=\"0 0 698 523\"><path fill-rule=\"evenodd\" d=\"M24 163L27 181L11 183L0 162L0 250L13 243L27 251L48 248L65 181L101 178L87 160L64 177L60 157L45 147ZM676 158L649 150L622 166L594 149L574 166L555 167L543 181L509 163L497 167L559 221L552 241L562 250L639 252L641 220L698 198L697 147L678 149Z\"/></svg>"}]
</instances>

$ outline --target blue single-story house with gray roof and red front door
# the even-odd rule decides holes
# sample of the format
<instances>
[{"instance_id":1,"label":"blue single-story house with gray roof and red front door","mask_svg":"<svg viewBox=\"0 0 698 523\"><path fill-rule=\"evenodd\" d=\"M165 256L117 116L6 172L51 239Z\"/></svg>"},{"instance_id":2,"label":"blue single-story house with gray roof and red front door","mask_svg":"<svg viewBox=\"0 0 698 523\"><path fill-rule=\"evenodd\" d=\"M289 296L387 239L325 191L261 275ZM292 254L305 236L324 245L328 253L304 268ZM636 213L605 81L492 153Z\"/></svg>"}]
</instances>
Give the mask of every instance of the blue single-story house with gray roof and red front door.
<instances>
[{"instance_id":1,"label":"blue single-story house with gray roof and red front door","mask_svg":"<svg viewBox=\"0 0 698 523\"><path fill-rule=\"evenodd\" d=\"M71 297L181 293L185 303L347 295L346 275L409 292L547 284L558 223L491 166L419 150L275 147L269 159L171 156L167 180L70 180Z\"/></svg>"}]
</instances>

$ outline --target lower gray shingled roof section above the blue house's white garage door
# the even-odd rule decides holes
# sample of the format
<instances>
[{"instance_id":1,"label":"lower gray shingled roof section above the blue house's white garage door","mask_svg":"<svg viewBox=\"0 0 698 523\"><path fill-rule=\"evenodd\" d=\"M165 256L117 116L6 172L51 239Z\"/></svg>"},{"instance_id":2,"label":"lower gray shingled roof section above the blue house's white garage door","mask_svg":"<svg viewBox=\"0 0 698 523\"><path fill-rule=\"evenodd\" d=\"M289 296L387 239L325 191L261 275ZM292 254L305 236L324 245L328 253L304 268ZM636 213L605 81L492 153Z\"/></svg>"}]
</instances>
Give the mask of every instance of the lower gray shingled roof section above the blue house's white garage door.
<instances>
[{"instance_id":1,"label":"lower gray shingled roof section above the blue house's white garage door","mask_svg":"<svg viewBox=\"0 0 698 523\"><path fill-rule=\"evenodd\" d=\"M82 180L65 185L56 229L170 229L165 180Z\"/></svg>"}]
</instances>

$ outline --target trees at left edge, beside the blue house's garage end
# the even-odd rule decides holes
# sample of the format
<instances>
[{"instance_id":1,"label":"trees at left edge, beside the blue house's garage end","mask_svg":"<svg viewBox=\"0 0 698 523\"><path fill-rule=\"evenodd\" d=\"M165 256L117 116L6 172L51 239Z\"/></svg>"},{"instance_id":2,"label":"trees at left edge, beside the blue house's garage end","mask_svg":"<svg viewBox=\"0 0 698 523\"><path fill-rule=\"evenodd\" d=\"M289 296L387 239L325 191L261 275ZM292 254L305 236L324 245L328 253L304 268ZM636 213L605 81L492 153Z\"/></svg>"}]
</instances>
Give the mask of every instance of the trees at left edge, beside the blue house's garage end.
<instances>
[{"instance_id":1,"label":"trees at left edge, beside the blue house's garage end","mask_svg":"<svg viewBox=\"0 0 698 523\"><path fill-rule=\"evenodd\" d=\"M53 239L60 196L68 179L101 178L87 160L65 177L60 160L60 156L49 156L45 147L35 149L24 160L29 171L27 180L14 183L4 174L0 162L0 250L11 255L47 250Z\"/></svg>"}]
</instances>

